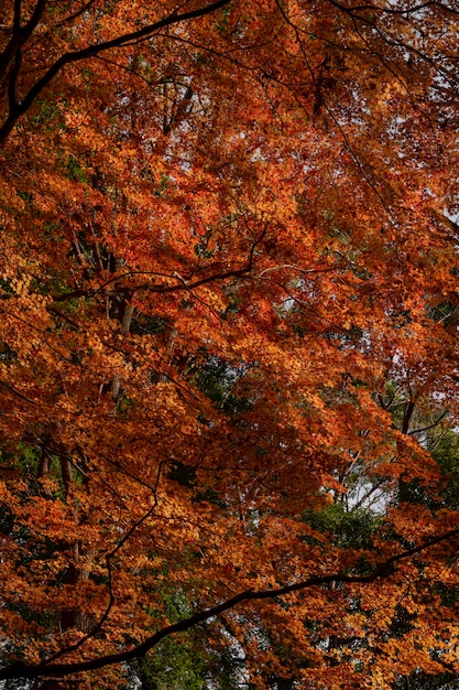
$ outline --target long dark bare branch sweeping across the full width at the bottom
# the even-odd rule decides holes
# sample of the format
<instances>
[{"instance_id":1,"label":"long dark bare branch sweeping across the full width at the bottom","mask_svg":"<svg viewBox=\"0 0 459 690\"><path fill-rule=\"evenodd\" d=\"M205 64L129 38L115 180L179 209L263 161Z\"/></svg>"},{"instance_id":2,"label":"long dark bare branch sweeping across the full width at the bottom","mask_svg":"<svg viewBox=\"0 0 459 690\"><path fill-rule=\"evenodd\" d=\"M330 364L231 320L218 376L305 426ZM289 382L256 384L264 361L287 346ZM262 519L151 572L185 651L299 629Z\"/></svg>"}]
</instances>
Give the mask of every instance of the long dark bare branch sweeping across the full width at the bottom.
<instances>
[{"instance_id":1,"label":"long dark bare branch sweeping across the full width at the bottom","mask_svg":"<svg viewBox=\"0 0 459 690\"><path fill-rule=\"evenodd\" d=\"M114 664L123 664L127 661L131 661L132 659L136 659L143 657L150 649L155 647L162 639L168 637L170 635L174 635L175 633L183 633L188 630L199 623L204 621L208 621L215 616L222 614L225 611L233 608L241 602L248 601L261 601L264 599L273 599L276 596L283 596L285 594L289 594L291 592L299 592L302 590L306 590L308 587L318 586L323 584L331 584L331 583L343 583L343 584L352 584L360 583L365 584L369 582L374 582L379 578L386 575L391 572L392 568L398 563L400 561L406 560L412 556L420 553L430 547L434 547L442 541L447 541L452 537L457 537L459 535L459 527L456 529L451 529L444 535L439 535L438 537L433 537L431 539L427 539L424 543L412 547L411 549L406 549L401 553L396 553L391 558L386 559L383 563L378 565L370 574L368 575L346 575L342 573L336 573L331 575L315 575L313 578L308 578L308 580L304 580L302 582L296 582L295 584L289 584L283 587L277 587L275 590L247 590L245 592L241 592L236 596L218 604L217 606L212 606L211 608L206 608L199 613L189 616L188 618L184 618L179 623L174 623L173 625L166 625L161 630L145 639L140 645L136 645L129 651L121 651L119 654L109 654L103 657L98 657L95 659L89 659L88 661L79 661L75 664L53 664L51 666L44 666L43 664L32 665L24 664L23 661L17 661L11 666L8 666L0 670L0 680L7 680L10 678L64 678L66 676L70 676L74 673L83 673L85 671L94 671L99 668L105 668L107 666L112 666Z\"/></svg>"}]
</instances>

